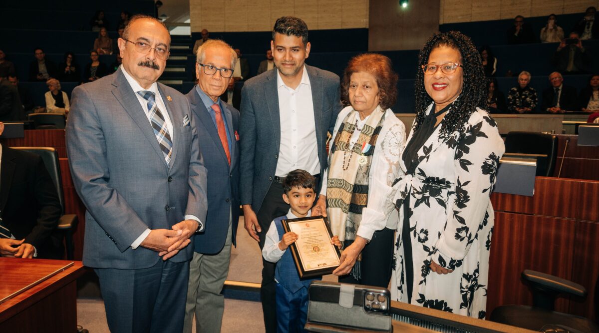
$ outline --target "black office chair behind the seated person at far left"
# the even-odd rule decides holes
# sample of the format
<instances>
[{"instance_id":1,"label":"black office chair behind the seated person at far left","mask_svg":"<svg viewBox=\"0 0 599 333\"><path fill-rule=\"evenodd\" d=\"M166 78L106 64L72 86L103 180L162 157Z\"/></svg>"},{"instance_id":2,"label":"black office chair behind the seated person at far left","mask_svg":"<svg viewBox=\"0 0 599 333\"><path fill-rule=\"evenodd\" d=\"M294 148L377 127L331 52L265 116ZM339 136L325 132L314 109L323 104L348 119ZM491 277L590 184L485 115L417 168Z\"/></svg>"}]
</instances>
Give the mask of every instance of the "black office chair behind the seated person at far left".
<instances>
[{"instance_id":1,"label":"black office chair behind the seated person at far left","mask_svg":"<svg viewBox=\"0 0 599 333\"><path fill-rule=\"evenodd\" d=\"M73 260L73 229L77 225L78 219L75 214L65 214L65 196L62 192L62 177L60 175L60 164L58 163L58 153L53 147L13 147L14 149L25 150L26 152L40 155L46 165L46 169L50 174L50 178L54 182L58 191L58 199L62 208L62 216L58 220L59 231L62 231L65 236L66 259Z\"/></svg>"}]
</instances>

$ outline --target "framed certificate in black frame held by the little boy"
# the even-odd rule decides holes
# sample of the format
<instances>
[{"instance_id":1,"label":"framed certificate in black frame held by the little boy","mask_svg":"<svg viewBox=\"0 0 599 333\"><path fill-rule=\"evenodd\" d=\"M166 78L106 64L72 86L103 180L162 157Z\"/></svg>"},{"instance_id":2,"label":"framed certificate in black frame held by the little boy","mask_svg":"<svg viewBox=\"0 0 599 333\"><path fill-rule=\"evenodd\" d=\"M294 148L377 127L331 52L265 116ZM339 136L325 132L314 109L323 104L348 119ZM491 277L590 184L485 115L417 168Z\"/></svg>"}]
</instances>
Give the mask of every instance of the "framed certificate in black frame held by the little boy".
<instances>
[{"instance_id":1,"label":"framed certificate in black frame held by the little boy","mask_svg":"<svg viewBox=\"0 0 599 333\"><path fill-rule=\"evenodd\" d=\"M291 244L291 254L299 278L331 274L340 264L341 253L331 244L333 234L324 216L282 220L285 232L295 232L297 241Z\"/></svg>"}]
</instances>

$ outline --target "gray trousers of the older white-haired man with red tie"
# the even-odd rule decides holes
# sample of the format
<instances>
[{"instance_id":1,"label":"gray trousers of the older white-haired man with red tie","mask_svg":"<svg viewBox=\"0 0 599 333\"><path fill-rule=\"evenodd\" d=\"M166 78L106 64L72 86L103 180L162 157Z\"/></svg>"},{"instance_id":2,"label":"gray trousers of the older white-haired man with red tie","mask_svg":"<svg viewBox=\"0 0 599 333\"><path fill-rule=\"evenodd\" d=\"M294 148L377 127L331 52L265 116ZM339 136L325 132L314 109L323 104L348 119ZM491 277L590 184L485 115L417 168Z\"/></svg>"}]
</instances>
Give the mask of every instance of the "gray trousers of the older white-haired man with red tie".
<instances>
[{"instance_id":1,"label":"gray trousers of the older white-haired man with red tie","mask_svg":"<svg viewBox=\"0 0 599 333\"><path fill-rule=\"evenodd\" d=\"M229 231L222 250L214 255L193 253L193 259L189 264L184 333L192 331L194 314L196 332L220 332L223 310L225 310L225 296L220 292L229 273L230 260L231 218L229 217Z\"/></svg>"}]
</instances>

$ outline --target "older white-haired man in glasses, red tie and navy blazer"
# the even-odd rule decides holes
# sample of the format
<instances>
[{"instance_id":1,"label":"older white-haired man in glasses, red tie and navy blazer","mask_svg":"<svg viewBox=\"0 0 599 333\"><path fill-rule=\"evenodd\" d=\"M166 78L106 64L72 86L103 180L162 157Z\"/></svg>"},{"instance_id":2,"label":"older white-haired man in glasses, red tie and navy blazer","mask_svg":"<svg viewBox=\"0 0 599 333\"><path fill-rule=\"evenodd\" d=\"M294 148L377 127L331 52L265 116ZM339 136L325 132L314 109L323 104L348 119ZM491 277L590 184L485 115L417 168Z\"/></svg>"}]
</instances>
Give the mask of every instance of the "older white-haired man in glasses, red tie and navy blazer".
<instances>
[{"instance_id":1,"label":"older white-haired man in glasses, red tie and navy blazer","mask_svg":"<svg viewBox=\"0 0 599 333\"><path fill-rule=\"evenodd\" d=\"M225 298L220 294L229 271L231 243L239 220L239 111L219 96L227 89L237 55L220 40L199 47L198 84L187 93L198 123L199 144L208 170L208 214L204 232L193 237L183 332L220 332Z\"/></svg>"}]
</instances>

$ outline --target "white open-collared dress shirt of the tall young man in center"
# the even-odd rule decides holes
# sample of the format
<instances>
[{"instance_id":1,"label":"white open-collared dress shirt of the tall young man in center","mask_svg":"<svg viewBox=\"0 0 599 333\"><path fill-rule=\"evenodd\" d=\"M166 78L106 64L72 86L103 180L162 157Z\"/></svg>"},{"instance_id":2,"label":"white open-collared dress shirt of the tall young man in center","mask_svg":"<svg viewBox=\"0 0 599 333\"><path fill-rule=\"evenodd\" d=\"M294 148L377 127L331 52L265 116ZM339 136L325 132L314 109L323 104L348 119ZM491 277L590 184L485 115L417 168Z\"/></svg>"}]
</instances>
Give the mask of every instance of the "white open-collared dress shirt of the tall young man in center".
<instances>
[{"instance_id":1,"label":"white open-collared dress shirt of the tall young man in center","mask_svg":"<svg viewBox=\"0 0 599 333\"><path fill-rule=\"evenodd\" d=\"M320 173L312 89L305 66L303 71L301 83L295 89L286 86L277 71L281 144L274 174L279 177L295 169L313 175Z\"/></svg>"}]
</instances>

